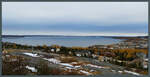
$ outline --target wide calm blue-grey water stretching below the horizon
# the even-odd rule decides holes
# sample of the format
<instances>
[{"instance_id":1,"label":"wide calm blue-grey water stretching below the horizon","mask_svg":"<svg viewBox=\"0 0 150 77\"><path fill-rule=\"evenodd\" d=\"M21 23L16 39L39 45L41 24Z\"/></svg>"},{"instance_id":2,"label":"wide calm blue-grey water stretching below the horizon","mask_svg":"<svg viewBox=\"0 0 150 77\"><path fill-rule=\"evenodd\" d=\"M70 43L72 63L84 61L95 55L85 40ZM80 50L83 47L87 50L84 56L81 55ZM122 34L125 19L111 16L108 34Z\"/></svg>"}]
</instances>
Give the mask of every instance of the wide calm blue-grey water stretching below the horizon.
<instances>
[{"instance_id":1,"label":"wide calm blue-grey water stretching below the horizon","mask_svg":"<svg viewBox=\"0 0 150 77\"><path fill-rule=\"evenodd\" d=\"M38 36L38 37L5 37L3 42L12 42L23 45L60 45L60 46L81 46L107 45L118 43L121 40L101 36Z\"/></svg>"}]
</instances>

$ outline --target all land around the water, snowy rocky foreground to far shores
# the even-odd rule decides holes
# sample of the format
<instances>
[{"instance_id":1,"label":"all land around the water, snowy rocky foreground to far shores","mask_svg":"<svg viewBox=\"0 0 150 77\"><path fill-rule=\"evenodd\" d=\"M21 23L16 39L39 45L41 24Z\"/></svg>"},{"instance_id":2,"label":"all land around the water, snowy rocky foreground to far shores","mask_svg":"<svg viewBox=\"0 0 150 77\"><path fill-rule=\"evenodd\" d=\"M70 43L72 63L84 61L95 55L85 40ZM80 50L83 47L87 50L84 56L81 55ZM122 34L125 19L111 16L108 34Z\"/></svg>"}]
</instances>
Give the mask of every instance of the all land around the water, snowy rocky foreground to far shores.
<instances>
[{"instance_id":1,"label":"all land around the water, snowy rocky foreground to far shores","mask_svg":"<svg viewBox=\"0 0 150 77\"><path fill-rule=\"evenodd\" d=\"M25 37L27 36L17 36L17 38L4 36L3 39ZM122 39L122 41L89 47L32 46L3 42L2 74L101 75L112 73L138 76L148 74L147 36L109 38Z\"/></svg>"}]
</instances>

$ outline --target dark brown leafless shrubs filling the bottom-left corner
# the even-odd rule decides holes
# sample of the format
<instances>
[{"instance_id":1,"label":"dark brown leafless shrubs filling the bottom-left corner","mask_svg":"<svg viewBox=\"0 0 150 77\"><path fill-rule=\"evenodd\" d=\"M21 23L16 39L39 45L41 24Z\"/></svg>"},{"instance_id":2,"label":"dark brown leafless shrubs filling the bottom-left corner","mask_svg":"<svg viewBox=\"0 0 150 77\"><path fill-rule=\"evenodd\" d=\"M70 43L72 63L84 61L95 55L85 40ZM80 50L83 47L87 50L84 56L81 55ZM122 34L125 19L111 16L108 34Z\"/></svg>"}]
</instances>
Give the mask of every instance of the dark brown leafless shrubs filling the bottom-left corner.
<instances>
[{"instance_id":1,"label":"dark brown leafless shrubs filling the bottom-left corner","mask_svg":"<svg viewBox=\"0 0 150 77\"><path fill-rule=\"evenodd\" d=\"M17 61L2 61L2 74L3 75L26 75L29 71L25 68L27 63L24 62L23 57L15 56ZM9 58L11 59L11 57Z\"/></svg>"}]
</instances>

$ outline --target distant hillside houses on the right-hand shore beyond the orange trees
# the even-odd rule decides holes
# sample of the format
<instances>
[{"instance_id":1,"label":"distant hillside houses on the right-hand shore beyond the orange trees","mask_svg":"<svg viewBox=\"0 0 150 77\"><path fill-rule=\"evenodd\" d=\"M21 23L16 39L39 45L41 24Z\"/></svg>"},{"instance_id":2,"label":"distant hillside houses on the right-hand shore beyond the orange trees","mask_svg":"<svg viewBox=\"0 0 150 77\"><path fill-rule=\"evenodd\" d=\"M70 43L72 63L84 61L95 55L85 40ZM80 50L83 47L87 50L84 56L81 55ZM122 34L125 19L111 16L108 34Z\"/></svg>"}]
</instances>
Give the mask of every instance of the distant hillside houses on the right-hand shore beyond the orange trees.
<instances>
[{"instance_id":1,"label":"distant hillside houses on the right-hand shore beyond the orange trees","mask_svg":"<svg viewBox=\"0 0 150 77\"><path fill-rule=\"evenodd\" d=\"M134 49L144 49L148 48L148 39L143 38L140 40L125 40L117 44L111 45L93 45L90 48L98 49L125 49L125 48L134 48Z\"/></svg>"}]
</instances>

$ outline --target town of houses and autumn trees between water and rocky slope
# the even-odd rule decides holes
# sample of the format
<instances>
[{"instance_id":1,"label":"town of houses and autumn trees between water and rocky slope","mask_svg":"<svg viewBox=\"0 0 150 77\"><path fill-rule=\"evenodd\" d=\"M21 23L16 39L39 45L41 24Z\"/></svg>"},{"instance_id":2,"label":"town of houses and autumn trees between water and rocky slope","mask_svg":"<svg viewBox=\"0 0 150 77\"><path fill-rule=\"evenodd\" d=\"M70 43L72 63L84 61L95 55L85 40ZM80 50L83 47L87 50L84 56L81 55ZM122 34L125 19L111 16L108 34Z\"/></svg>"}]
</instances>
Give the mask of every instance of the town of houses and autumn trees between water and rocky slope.
<instances>
[{"instance_id":1,"label":"town of houses and autumn trees between water and rocky slope","mask_svg":"<svg viewBox=\"0 0 150 77\"><path fill-rule=\"evenodd\" d=\"M47 54L59 54L61 56L91 58L98 60L99 62L123 66L130 71L140 74L148 73L148 39L146 37L125 39L111 45L93 45L89 47L64 47L59 45L29 46L10 42L3 42L2 45L2 58L4 62L7 62L6 60L8 60L8 57L9 62L18 60L17 57L10 58L10 55L8 56L9 52L28 50L30 52L36 51L34 53L41 51ZM71 60L69 61L71 62Z\"/></svg>"}]
</instances>

